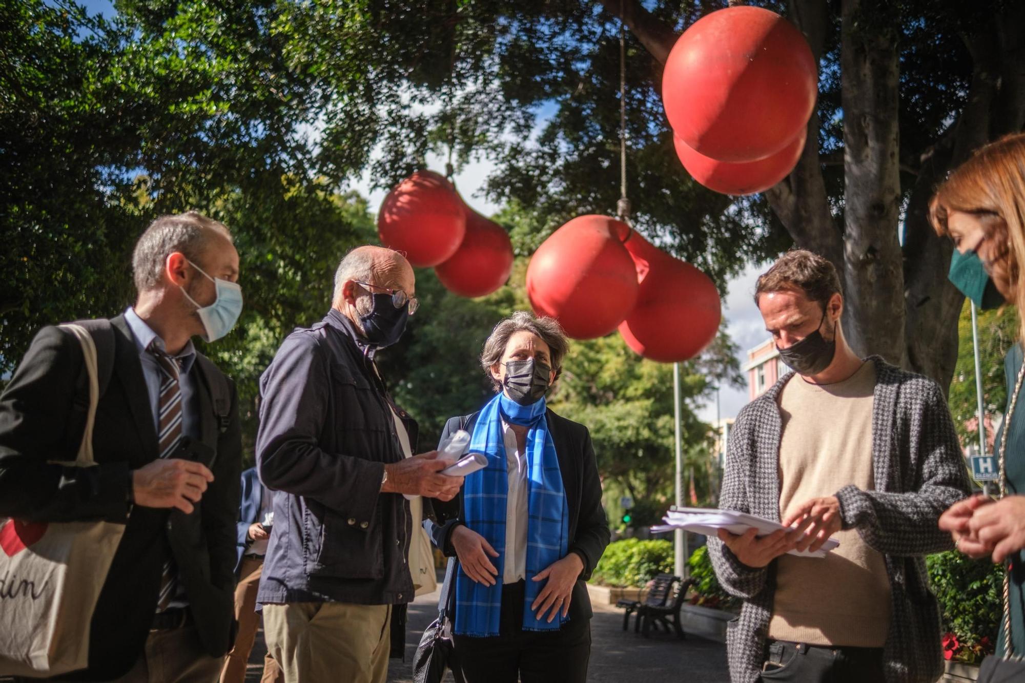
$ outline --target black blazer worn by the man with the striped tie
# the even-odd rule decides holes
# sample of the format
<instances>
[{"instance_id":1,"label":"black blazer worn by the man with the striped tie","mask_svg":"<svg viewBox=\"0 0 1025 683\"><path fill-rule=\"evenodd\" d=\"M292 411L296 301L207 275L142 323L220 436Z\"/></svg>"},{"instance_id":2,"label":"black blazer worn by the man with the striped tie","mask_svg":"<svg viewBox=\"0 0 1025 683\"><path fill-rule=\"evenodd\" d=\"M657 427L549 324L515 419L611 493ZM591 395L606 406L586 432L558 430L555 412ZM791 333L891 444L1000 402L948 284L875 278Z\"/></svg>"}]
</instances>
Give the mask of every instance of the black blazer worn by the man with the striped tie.
<instances>
[{"instance_id":1,"label":"black blazer worn by the man with the striped tie","mask_svg":"<svg viewBox=\"0 0 1025 683\"><path fill-rule=\"evenodd\" d=\"M229 381L209 360L198 357L200 444L181 456L213 472L191 515L127 504L128 476L158 456L157 433L135 343L124 316L114 329L114 372L99 400L93 432L97 466L75 468L48 460L74 460L84 428L84 375L78 339L44 327L0 395L0 517L39 522L106 520L125 524L110 573L93 612L89 669L75 680L118 678L142 652L157 606L164 560L173 554L189 594L204 649L223 655L234 637L235 522L239 509L241 429L234 385L227 419L219 419L210 391ZM87 399L86 399L87 400ZM84 634L83 634L84 636Z\"/></svg>"}]
</instances>

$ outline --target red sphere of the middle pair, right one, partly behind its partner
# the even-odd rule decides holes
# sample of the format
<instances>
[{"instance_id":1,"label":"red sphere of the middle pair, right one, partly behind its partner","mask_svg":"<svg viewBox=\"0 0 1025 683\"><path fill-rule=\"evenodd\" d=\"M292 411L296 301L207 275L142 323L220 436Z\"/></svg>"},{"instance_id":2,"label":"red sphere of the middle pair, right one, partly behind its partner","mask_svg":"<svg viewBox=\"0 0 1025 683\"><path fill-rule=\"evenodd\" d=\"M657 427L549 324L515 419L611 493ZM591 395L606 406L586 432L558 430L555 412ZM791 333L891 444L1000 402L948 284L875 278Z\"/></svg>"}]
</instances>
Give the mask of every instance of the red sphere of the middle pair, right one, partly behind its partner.
<instances>
[{"instance_id":1,"label":"red sphere of the middle pair, right one, partly behind its partner","mask_svg":"<svg viewBox=\"0 0 1025 683\"><path fill-rule=\"evenodd\" d=\"M662 363L697 356L715 338L723 318L715 285L707 275L656 249L637 232L625 246L641 280L637 306L619 325L626 346Z\"/></svg>"}]
</instances>

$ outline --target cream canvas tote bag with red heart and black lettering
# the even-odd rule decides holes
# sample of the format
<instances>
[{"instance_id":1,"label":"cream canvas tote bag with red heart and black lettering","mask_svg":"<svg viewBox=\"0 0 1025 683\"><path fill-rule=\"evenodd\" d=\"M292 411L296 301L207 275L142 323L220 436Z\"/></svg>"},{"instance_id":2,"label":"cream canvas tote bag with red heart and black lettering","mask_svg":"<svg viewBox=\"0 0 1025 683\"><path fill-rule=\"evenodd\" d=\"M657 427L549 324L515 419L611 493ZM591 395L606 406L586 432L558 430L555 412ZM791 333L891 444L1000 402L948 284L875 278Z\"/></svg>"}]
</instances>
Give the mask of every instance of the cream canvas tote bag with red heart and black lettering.
<instances>
[{"instance_id":1,"label":"cream canvas tote bag with red heart and black lettering","mask_svg":"<svg viewBox=\"0 0 1025 683\"><path fill-rule=\"evenodd\" d=\"M74 463L94 467L99 401L96 347L80 325L61 325L82 345L89 410ZM0 518L0 676L56 676L88 666L89 621L124 524L23 522Z\"/></svg>"}]
</instances>

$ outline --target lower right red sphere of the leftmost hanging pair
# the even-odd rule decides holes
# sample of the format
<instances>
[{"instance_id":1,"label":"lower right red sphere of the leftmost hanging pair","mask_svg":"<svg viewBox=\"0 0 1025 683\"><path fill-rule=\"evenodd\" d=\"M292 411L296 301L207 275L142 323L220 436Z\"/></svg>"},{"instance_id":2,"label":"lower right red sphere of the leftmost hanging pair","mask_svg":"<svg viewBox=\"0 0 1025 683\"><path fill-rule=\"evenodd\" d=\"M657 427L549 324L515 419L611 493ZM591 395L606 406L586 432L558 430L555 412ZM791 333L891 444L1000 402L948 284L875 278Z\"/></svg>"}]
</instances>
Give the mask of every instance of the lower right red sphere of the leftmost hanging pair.
<instances>
[{"instance_id":1,"label":"lower right red sphere of the leftmost hanging pair","mask_svg":"<svg viewBox=\"0 0 1025 683\"><path fill-rule=\"evenodd\" d=\"M512 242L505 229L466 207L462 244L435 273L459 296L484 296L501 287L512 272Z\"/></svg>"}]
</instances>

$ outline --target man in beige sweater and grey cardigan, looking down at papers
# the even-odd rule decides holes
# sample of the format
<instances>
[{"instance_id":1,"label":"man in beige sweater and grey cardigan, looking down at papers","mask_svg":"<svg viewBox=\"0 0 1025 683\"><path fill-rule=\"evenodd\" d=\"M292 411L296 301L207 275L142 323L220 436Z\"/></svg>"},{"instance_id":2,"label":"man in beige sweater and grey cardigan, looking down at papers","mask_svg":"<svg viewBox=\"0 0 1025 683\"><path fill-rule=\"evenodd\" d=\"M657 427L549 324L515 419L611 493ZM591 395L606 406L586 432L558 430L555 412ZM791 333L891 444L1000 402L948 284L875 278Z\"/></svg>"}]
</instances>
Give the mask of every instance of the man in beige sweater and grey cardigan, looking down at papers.
<instances>
[{"instance_id":1,"label":"man in beige sweater and grey cardigan, looking down at papers","mask_svg":"<svg viewBox=\"0 0 1025 683\"><path fill-rule=\"evenodd\" d=\"M790 530L709 541L720 580L745 601L728 636L732 678L934 681L939 620L922 556L949 547L937 519L967 490L942 392L851 350L826 259L785 254L754 296L794 372L738 416L721 505ZM788 554L830 536L839 547L825 558Z\"/></svg>"}]
</instances>

